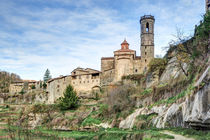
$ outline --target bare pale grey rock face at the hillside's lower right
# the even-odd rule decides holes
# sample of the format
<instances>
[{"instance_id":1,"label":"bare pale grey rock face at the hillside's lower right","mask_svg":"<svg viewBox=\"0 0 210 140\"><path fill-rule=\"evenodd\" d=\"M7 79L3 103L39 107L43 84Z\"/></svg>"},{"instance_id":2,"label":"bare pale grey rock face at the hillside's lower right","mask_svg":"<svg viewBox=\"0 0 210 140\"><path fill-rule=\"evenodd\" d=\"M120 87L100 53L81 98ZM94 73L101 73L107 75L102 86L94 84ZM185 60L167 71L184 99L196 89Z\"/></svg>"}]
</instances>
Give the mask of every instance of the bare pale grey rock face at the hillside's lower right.
<instances>
[{"instance_id":1,"label":"bare pale grey rock face at the hillside's lower right","mask_svg":"<svg viewBox=\"0 0 210 140\"><path fill-rule=\"evenodd\" d=\"M200 79L196 82L199 88L197 92L188 95L180 103L173 103L170 106L154 106L148 110L146 107L137 109L133 114L120 122L120 128L133 128L138 115L158 114L152 120L157 128L165 127L192 127L196 129L210 130L210 66L206 69ZM199 82L199 83L198 83ZM201 83L205 86L199 87Z\"/></svg>"}]
</instances>

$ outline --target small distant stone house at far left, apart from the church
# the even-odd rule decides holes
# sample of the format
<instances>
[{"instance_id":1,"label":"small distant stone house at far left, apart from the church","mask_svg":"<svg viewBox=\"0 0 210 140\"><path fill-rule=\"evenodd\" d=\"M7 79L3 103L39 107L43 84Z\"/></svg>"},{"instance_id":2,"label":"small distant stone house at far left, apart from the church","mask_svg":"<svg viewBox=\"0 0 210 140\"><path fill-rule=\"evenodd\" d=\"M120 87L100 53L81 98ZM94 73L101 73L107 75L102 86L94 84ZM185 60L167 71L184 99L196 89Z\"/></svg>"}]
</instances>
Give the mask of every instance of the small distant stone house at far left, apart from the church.
<instances>
[{"instance_id":1,"label":"small distant stone house at far left, apart from the church","mask_svg":"<svg viewBox=\"0 0 210 140\"><path fill-rule=\"evenodd\" d=\"M28 90L31 90L33 86L35 88L38 88L38 85L39 85L38 82L35 80L23 80L23 81L13 82L10 84L9 93L11 94L19 93L22 90L26 92Z\"/></svg>"}]
</instances>

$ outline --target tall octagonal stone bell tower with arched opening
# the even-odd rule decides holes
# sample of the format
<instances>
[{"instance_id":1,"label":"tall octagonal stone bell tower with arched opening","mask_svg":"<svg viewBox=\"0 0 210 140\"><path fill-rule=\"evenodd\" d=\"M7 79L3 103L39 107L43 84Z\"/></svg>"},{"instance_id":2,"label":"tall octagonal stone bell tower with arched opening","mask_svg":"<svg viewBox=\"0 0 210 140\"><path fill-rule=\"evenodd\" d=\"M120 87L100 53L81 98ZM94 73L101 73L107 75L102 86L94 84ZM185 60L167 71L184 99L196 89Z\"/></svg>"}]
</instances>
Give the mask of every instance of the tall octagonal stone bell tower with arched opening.
<instances>
[{"instance_id":1,"label":"tall octagonal stone bell tower with arched opening","mask_svg":"<svg viewBox=\"0 0 210 140\"><path fill-rule=\"evenodd\" d=\"M141 60L144 69L154 58L154 23L155 18L151 15L144 15L140 19L141 24Z\"/></svg>"}]
</instances>

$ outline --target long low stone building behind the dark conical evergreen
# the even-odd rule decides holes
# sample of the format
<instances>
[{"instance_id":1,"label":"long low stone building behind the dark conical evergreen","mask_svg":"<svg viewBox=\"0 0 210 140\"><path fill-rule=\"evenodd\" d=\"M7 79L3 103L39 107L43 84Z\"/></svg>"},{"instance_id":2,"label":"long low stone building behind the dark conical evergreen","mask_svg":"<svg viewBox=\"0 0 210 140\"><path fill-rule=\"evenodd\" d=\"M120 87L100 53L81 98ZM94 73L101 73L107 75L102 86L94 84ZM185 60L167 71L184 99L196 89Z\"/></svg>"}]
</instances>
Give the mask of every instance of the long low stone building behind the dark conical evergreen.
<instances>
[{"instance_id":1,"label":"long low stone building behind the dark conical evergreen","mask_svg":"<svg viewBox=\"0 0 210 140\"><path fill-rule=\"evenodd\" d=\"M47 82L48 103L54 103L63 96L68 85L73 86L78 96L98 91L100 89L100 71L90 68L76 68L71 72L71 75L49 80Z\"/></svg>"}]
</instances>

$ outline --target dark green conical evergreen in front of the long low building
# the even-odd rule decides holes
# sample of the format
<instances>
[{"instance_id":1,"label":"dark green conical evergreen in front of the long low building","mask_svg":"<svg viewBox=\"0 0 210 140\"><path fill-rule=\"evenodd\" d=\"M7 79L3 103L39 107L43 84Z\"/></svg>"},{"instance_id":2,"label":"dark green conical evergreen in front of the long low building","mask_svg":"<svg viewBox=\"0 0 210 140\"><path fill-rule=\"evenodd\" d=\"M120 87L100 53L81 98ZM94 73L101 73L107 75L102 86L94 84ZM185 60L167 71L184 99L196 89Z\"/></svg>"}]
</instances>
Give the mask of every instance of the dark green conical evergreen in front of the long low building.
<instances>
[{"instance_id":1,"label":"dark green conical evergreen in front of the long low building","mask_svg":"<svg viewBox=\"0 0 210 140\"><path fill-rule=\"evenodd\" d=\"M61 110L68 110L78 106L79 99L71 85L66 87L64 97L58 99L58 106Z\"/></svg>"}]
</instances>

